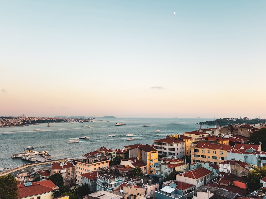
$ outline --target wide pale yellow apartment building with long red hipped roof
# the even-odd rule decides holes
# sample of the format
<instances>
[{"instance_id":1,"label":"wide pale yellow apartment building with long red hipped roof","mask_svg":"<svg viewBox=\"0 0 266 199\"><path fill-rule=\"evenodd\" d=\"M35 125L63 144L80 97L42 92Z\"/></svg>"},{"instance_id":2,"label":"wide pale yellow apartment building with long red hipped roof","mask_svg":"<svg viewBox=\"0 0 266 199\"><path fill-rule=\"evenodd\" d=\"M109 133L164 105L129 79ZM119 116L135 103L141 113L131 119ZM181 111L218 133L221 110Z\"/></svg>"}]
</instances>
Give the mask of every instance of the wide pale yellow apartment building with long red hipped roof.
<instances>
[{"instance_id":1,"label":"wide pale yellow apartment building with long red hipped roof","mask_svg":"<svg viewBox=\"0 0 266 199\"><path fill-rule=\"evenodd\" d=\"M191 162L214 162L218 165L225 160L226 152L232 150L227 144L213 144L211 142L198 142L192 145Z\"/></svg>"}]
</instances>

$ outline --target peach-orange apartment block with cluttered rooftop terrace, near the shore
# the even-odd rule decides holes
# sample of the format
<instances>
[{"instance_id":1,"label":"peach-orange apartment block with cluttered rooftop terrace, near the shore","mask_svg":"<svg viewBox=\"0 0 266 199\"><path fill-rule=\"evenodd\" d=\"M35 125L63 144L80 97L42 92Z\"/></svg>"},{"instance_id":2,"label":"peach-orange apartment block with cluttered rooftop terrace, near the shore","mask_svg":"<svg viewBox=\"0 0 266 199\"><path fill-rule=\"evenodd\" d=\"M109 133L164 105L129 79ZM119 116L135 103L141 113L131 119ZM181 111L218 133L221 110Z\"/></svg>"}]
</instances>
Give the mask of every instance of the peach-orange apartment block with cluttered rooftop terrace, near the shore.
<instances>
[{"instance_id":1,"label":"peach-orange apartment block with cluttered rooftop terrace, near the shore","mask_svg":"<svg viewBox=\"0 0 266 199\"><path fill-rule=\"evenodd\" d=\"M93 155L95 154L95 155ZM81 185L81 174L97 171L109 166L111 157L101 152L91 152L76 158L76 184Z\"/></svg>"}]
</instances>

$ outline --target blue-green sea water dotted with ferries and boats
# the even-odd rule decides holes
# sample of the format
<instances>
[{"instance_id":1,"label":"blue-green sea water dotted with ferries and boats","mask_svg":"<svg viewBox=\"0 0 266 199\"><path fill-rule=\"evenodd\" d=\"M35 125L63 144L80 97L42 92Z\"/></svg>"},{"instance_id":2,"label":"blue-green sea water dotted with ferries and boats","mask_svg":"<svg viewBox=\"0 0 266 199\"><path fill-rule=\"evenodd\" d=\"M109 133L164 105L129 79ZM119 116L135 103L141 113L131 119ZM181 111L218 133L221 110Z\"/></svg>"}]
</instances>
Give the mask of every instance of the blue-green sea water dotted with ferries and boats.
<instances>
[{"instance_id":1,"label":"blue-green sea water dotted with ferries and boats","mask_svg":"<svg viewBox=\"0 0 266 199\"><path fill-rule=\"evenodd\" d=\"M104 121L103 121L104 120ZM105 118L84 123L48 123L25 127L0 128L0 168L14 168L26 163L21 158L11 158L13 153L34 146L36 151L49 150L52 159L75 158L105 146L110 149L121 149L131 144L153 144L153 140L166 135L200 129L198 122L210 121L210 118ZM114 126L116 122L126 123ZM150 127L142 127L147 124ZM87 128L86 126L91 126ZM208 126L203 126L206 128ZM34 129L40 128L39 131ZM156 133L155 130L162 132ZM106 137L115 134L115 137ZM134 140L126 141L127 134L134 134ZM70 139L89 136L89 140L80 139L78 143L66 143Z\"/></svg>"}]
</instances>

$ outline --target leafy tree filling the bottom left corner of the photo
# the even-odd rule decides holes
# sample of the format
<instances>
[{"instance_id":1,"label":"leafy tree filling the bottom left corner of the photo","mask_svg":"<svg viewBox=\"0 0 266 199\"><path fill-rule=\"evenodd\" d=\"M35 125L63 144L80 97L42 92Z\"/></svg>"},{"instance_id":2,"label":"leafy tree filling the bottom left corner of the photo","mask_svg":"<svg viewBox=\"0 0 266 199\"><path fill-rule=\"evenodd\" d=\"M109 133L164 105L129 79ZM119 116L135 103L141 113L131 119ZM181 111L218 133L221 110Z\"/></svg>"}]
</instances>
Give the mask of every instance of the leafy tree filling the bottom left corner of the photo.
<instances>
[{"instance_id":1,"label":"leafy tree filling the bottom left corner of the photo","mask_svg":"<svg viewBox=\"0 0 266 199\"><path fill-rule=\"evenodd\" d=\"M0 176L0 198L17 199L18 187L12 174Z\"/></svg>"}]
</instances>

